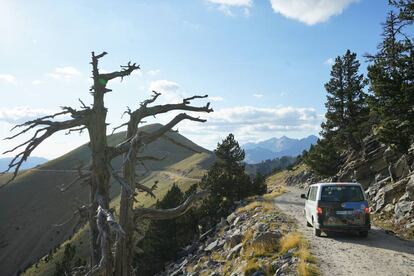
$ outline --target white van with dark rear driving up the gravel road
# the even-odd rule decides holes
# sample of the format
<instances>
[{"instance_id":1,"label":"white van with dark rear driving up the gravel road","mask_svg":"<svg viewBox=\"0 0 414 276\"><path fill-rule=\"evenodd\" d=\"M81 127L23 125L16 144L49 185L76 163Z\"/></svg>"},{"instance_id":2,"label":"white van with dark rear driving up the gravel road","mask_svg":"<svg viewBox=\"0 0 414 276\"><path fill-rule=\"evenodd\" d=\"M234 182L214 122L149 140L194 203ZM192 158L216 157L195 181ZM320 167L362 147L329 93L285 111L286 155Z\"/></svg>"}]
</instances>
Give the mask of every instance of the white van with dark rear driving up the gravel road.
<instances>
[{"instance_id":1,"label":"white van with dark rear driving up the gravel road","mask_svg":"<svg viewBox=\"0 0 414 276\"><path fill-rule=\"evenodd\" d=\"M368 201L359 183L317 183L309 186L305 201L306 224L315 236L321 232L357 232L371 229Z\"/></svg>"}]
</instances>

